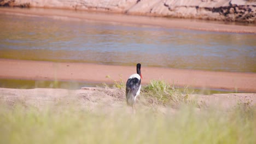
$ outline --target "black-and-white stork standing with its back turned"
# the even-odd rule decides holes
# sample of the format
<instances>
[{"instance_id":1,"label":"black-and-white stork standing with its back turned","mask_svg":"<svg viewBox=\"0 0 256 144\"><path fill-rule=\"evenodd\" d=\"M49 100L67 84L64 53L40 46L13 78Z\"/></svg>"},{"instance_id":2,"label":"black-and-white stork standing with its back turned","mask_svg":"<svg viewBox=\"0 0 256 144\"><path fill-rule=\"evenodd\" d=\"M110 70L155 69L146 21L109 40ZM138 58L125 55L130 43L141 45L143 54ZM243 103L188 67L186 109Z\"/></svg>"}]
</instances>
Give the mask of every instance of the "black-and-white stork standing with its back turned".
<instances>
[{"instance_id":1,"label":"black-and-white stork standing with its back turned","mask_svg":"<svg viewBox=\"0 0 256 144\"><path fill-rule=\"evenodd\" d=\"M136 98L141 92L141 64L136 65L137 74L132 74L126 82L126 103L128 106L132 106L132 113L135 114Z\"/></svg>"}]
</instances>

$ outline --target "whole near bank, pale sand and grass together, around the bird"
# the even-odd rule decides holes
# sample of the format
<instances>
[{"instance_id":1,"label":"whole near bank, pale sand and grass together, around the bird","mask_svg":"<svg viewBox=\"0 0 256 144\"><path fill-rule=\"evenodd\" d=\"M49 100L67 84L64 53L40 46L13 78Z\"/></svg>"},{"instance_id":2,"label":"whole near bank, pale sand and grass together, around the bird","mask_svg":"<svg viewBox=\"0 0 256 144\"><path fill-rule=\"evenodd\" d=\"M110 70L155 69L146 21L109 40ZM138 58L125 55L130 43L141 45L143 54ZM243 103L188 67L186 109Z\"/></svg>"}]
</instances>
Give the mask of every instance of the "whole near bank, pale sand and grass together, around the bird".
<instances>
[{"instance_id":1,"label":"whole near bank, pale sand and grass together, around the bird","mask_svg":"<svg viewBox=\"0 0 256 144\"><path fill-rule=\"evenodd\" d=\"M132 115L125 83L104 88L0 89L1 143L255 143L255 94L192 95L143 86ZM225 106L216 103L225 101ZM221 105L221 103L219 103Z\"/></svg>"}]
</instances>

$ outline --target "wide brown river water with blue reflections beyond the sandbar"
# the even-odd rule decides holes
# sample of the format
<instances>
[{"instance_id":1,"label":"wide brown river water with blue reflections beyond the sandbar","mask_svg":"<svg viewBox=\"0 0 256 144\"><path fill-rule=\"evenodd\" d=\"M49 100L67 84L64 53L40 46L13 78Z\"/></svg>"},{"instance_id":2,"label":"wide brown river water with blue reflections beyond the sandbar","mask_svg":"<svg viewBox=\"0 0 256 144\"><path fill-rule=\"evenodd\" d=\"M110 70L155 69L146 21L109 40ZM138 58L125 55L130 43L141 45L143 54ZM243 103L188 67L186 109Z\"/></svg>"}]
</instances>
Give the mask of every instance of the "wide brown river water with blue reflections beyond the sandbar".
<instances>
[{"instance_id":1,"label":"wide brown river water with blue reflections beyond the sandbar","mask_svg":"<svg viewBox=\"0 0 256 144\"><path fill-rule=\"evenodd\" d=\"M0 58L256 72L256 35L0 14Z\"/></svg>"}]
</instances>

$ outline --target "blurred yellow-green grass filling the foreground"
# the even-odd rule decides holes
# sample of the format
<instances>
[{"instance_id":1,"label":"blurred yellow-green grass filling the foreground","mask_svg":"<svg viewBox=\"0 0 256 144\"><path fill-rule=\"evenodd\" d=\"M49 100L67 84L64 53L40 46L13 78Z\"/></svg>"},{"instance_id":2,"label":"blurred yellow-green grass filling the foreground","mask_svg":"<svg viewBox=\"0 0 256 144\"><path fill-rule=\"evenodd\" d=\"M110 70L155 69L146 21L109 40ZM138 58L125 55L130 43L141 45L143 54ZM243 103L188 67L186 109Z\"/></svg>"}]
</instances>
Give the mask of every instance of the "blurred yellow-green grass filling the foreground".
<instances>
[{"instance_id":1,"label":"blurred yellow-green grass filling the foreground","mask_svg":"<svg viewBox=\"0 0 256 144\"><path fill-rule=\"evenodd\" d=\"M254 107L255 108L255 107ZM162 115L138 110L111 115L64 109L0 106L1 143L256 143L255 109L182 105Z\"/></svg>"}]
</instances>

